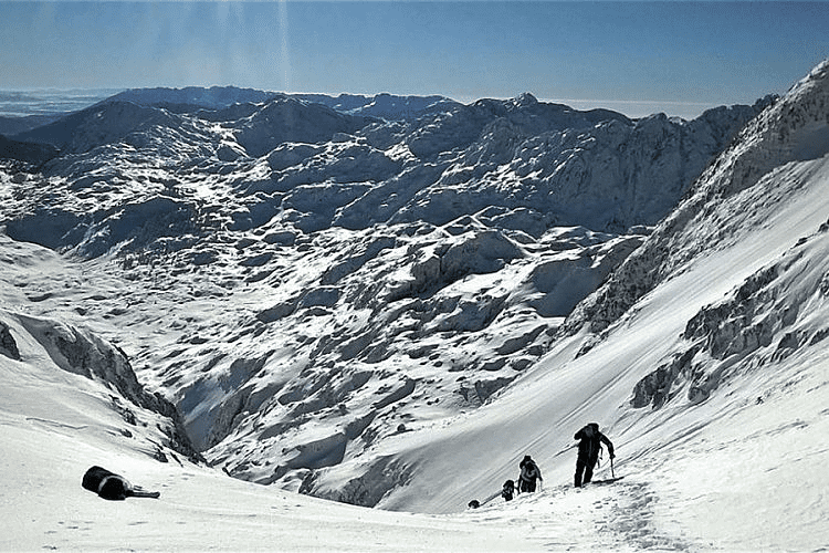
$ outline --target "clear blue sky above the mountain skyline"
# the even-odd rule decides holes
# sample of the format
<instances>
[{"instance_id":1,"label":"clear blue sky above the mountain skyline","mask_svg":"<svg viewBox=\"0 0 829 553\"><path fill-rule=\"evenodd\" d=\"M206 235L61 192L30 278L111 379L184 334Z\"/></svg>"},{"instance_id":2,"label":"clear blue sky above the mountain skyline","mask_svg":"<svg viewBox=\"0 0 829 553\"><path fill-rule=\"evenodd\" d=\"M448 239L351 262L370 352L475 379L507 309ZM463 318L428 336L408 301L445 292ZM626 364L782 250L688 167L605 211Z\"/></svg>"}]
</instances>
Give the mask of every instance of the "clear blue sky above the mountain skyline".
<instances>
[{"instance_id":1,"label":"clear blue sky above the mountain skyline","mask_svg":"<svg viewBox=\"0 0 829 553\"><path fill-rule=\"evenodd\" d=\"M0 2L0 88L227 85L695 116L829 56L825 2Z\"/></svg>"}]
</instances>

